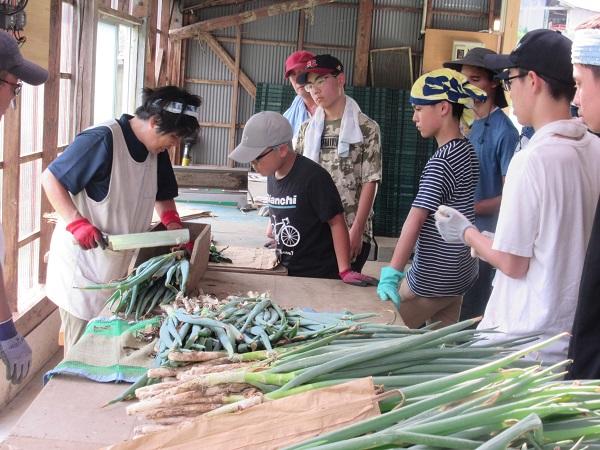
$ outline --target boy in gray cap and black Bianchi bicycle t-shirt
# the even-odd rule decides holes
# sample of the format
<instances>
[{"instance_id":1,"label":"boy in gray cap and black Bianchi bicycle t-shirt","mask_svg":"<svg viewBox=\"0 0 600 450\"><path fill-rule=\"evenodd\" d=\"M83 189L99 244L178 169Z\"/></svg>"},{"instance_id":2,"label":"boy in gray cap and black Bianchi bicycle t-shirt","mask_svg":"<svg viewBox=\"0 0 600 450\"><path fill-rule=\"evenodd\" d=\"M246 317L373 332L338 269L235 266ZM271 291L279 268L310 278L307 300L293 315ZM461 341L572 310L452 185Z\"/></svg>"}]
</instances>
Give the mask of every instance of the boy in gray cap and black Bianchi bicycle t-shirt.
<instances>
[{"instance_id":1,"label":"boy in gray cap and black Bianchi bicycle t-shirt","mask_svg":"<svg viewBox=\"0 0 600 450\"><path fill-rule=\"evenodd\" d=\"M357 286L374 278L350 269L350 241L344 208L331 176L317 163L297 155L292 127L281 115L263 111L252 116L242 142L229 155L251 162L268 177L273 235L289 275L341 278Z\"/></svg>"}]
</instances>

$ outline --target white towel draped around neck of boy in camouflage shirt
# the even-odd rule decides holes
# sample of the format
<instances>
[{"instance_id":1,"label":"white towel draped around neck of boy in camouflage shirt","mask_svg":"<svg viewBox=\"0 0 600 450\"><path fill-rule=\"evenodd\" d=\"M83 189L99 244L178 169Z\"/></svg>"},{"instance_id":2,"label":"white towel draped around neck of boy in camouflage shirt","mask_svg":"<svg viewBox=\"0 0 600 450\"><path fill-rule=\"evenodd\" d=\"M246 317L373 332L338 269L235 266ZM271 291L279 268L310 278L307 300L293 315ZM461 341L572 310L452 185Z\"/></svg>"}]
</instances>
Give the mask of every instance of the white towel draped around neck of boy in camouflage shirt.
<instances>
[{"instance_id":1,"label":"white towel draped around neck of boy in camouflage shirt","mask_svg":"<svg viewBox=\"0 0 600 450\"><path fill-rule=\"evenodd\" d=\"M359 144L363 141L363 135L358 125L358 113L360 112L358 103L346 95L346 106L344 107L338 138L338 155L342 158L350 156L350 144ZM325 111L319 106L306 127L303 152L304 156L317 163L321 153L321 136L323 135L324 126Z\"/></svg>"}]
</instances>

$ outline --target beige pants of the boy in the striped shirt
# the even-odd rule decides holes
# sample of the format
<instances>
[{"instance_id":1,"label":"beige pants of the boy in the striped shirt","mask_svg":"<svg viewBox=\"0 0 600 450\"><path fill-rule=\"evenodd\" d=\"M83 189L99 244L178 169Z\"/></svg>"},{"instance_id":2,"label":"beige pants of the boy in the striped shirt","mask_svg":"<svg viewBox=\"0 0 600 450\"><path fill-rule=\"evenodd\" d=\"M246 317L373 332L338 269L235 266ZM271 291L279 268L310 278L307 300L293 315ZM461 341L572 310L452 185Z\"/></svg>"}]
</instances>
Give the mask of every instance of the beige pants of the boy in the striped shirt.
<instances>
[{"instance_id":1,"label":"beige pants of the boy in the striped shirt","mask_svg":"<svg viewBox=\"0 0 600 450\"><path fill-rule=\"evenodd\" d=\"M400 284L400 316L409 328L418 328L424 323L440 322L436 328L458 322L462 295L454 297L420 297L408 287L406 278Z\"/></svg>"}]
</instances>

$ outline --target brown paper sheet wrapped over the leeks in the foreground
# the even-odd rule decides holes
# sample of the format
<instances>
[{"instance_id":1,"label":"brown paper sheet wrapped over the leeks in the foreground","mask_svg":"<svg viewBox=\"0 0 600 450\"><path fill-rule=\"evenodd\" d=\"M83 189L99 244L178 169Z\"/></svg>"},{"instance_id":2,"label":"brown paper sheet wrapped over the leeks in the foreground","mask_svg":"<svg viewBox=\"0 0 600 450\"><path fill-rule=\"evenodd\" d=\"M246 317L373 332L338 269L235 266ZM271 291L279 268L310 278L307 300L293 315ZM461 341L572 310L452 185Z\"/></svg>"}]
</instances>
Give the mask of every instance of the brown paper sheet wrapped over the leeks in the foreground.
<instances>
[{"instance_id":1,"label":"brown paper sheet wrapped over the leeks in the foreground","mask_svg":"<svg viewBox=\"0 0 600 450\"><path fill-rule=\"evenodd\" d=\"M377 415L373 379L361 378L234 414L200 417L106 450L278 449Z\"/></svg>"}]
</instances>

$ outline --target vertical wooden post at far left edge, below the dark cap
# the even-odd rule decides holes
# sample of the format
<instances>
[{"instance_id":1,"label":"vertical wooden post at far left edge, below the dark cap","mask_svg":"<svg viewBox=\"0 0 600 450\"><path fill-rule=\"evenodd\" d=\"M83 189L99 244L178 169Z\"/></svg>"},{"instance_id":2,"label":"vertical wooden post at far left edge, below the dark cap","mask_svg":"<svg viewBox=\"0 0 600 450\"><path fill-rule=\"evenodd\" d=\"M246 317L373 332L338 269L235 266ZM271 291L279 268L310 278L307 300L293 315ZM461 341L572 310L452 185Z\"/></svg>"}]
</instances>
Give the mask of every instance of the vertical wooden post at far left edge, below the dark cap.
<instances>
[{"instance_id":1,"label":"vertical wooden post at far left edge, below the dark cap","mask_svg":"<svg viewBox=\"0 0 600 450\"><path fill-rule=\"evenodd\" d=\"M2 174L2 226L4 227L4 284L11 311L17 311L19 239L19 150L21 148L21 97L16 108L4 113L4 171Z\"/></svg>"}]
</instances>

